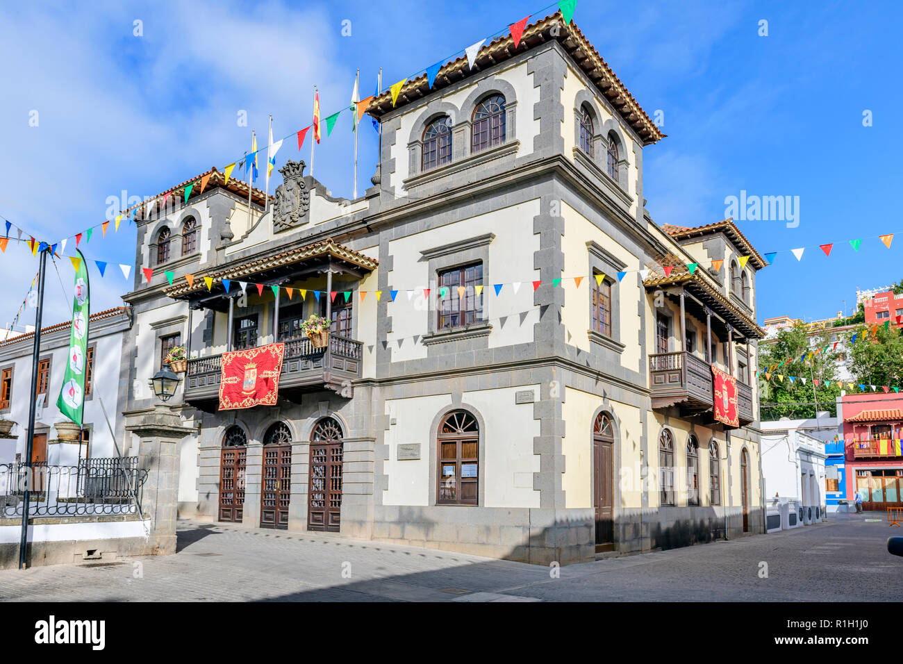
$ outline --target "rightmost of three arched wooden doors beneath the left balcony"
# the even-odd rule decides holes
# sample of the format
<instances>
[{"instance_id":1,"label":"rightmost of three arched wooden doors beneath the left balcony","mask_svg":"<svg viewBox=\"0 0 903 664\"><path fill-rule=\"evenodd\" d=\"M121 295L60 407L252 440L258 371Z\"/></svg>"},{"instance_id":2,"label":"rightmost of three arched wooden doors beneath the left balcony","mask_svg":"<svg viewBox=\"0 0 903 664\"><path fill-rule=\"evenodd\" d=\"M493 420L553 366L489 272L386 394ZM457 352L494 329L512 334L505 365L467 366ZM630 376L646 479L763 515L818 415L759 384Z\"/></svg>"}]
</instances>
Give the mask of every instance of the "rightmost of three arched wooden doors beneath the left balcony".
<instances>
[{"instance_id":1,"label":"rightmost of three arched wooden doors beneath the left balcony","mask_svg":"<svg viewBox=\"0 0 903 664\"><path fill-rule=\"evenodd\" d=\"M311 434L307 529L339 532L341 520L341 427L324 417Z\"/></svg>"}]
</instances>

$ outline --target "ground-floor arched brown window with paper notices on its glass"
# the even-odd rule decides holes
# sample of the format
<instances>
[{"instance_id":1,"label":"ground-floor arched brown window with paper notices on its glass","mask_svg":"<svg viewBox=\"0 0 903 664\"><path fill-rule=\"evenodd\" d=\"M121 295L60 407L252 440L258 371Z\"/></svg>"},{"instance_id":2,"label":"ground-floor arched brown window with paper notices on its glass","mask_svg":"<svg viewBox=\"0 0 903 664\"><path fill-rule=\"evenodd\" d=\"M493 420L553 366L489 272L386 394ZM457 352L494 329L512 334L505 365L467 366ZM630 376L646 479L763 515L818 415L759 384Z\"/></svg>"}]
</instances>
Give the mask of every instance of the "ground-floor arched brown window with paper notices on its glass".
<instances>
[{"instance_id":1,"label":"ground-floor arched brown window with paper notices on its glass","mask_svg":"<svg viewBox=\"0 0 903 664\"><path fill-rule=\"evenodd\" d=\"M476 505L479 496L477 419L466 410L454 410L442 419L437 437L436 503Z\"/></svg>"}]
</instances>

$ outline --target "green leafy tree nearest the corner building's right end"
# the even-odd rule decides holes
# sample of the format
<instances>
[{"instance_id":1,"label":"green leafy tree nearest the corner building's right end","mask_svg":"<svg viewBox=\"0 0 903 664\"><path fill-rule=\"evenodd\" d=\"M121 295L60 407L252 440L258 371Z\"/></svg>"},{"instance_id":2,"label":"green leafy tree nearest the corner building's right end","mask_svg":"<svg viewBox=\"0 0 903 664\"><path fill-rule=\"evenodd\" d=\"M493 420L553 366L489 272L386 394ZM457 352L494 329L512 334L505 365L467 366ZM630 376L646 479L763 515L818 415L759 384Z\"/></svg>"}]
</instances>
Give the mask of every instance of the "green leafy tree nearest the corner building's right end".
<instances>
[{"instance_id":1,"label":"green leafy tree nearest the corner building's right end","mask_svg":"<svg viewBox=\"0 0 903 664\"><path fill-rule=\"evenodd\" d=\"M827 351L825 346L829 346ZM815 417L819 409L836 411L834 399L841 388L836 383L837 356L831 346L827 333L810 336L803 323L777 332L777 340L759 354L759 395L768 404L761 407L761 419L803 419Z\"/></svg>"}]
</instances>

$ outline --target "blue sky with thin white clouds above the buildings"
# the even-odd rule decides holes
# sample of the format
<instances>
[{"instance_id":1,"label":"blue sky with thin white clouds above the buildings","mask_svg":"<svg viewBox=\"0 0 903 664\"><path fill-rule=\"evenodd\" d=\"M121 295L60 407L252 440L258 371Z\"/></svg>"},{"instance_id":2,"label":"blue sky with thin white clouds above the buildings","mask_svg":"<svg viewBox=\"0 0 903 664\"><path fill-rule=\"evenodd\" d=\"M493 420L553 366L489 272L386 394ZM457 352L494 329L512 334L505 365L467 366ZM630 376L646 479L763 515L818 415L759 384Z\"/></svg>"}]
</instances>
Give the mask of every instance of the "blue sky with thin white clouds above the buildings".
<instances>
[{"instance_id":1,"label":"blue sky with thin white clouds above the buildings","mask_svg":"<svg viewBox=\"0 0 903 664\"><path fill-rule=\"evenodd\" d=\"M37 238L74 235L104 220L110 196L153 195L235 161L251 128L265 136L268 114L277 138L309 125L314 84L325 117L347 105L356 69L361 94L371 94L379 67L387 86L543 5L0 5L0 123L8 128L0 215ZM768 36L759 36L761 20ZM741 190L799 197L796 228L739 221L760 253L779 252L759 272L760 322L829 317L844 299L852 307L857 286L903 277L903 235L890 249L877 239L903 234L903 139L893 120L903 108L900 4L580 0L574 21L647 113L663 114L668 137L644 153L647 208L658 223L721 220L725 198ZM873 126L862 125L866 110ZM243 111L247 126L238 126ZM349 124L340 117L316 154L314 175L334 195L351 194ZM365 126L359 192L375 154L376 133ZM286 141L278 156L277 166L297 158L296 146ZM301 157L310 159L307 144ZM853 238L865 238L858 252L847 244ZM829 242L830 258L818 248ZM800 262L789 251L798 247L806 248ZM134 227L92 239L86 255L134 263ZM69 317L65 263L60 277L48 274L45 323ZM31 253L10 243L0 257L0 323L13 318L36 270ZM92 272L93 308L121 304L129 286L118 270L103 279ZM33 322L33 310L23 318Z\"/></svg>"}]
</instances>

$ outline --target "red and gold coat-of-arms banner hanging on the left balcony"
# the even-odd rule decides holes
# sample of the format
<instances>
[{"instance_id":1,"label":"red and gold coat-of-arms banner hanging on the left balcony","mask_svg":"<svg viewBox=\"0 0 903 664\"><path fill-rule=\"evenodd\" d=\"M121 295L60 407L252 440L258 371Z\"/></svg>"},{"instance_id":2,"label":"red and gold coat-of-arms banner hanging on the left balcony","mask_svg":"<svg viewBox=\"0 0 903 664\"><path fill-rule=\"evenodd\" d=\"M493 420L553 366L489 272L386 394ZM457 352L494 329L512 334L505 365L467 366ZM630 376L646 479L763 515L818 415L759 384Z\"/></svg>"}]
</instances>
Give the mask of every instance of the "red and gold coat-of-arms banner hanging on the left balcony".
<instances>
[{"instance_id":1,"label":"red and gold coat-of-arms banner hanging on the left balcony","mask_svg":"<svg viewBox=\"0 0 903 664\"><path fill-rule=\"evenodd\" d=\"M284 343L224 352L219 374L219 410L275 406Z\"/></svg>"}]
</instances>

